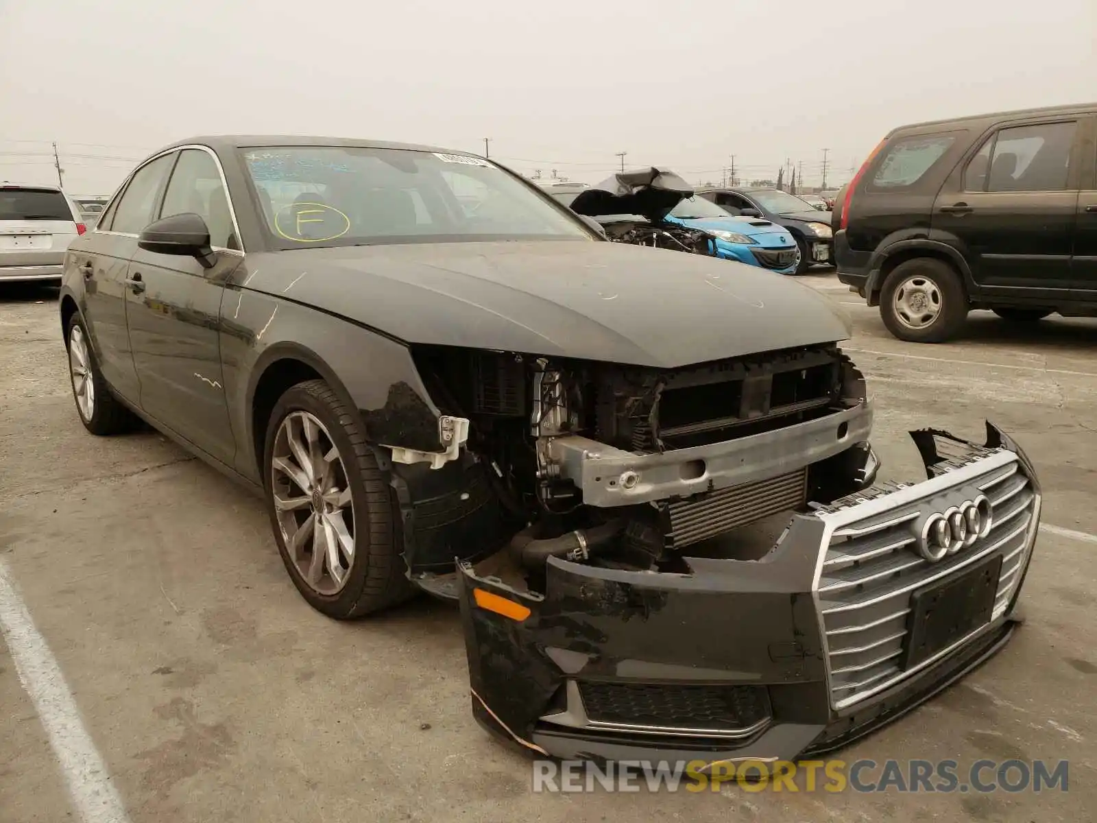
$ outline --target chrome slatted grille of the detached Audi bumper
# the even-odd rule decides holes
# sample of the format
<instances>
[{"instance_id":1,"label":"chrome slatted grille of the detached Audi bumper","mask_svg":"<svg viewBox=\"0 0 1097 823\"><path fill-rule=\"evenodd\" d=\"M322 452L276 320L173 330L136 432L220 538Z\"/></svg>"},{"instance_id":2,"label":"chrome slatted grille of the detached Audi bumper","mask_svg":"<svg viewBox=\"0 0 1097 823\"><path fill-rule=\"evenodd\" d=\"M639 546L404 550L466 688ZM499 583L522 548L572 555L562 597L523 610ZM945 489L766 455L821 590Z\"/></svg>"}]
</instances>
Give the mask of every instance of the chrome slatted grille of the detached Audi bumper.
<instances>
[{"instance_id":1,"label":"chrome slatted grille of the detached Audi bumper","mask_svg":"<svg viewBox=\"0 0 1097 823\"><path fill-rule=\"evenodd\" d=\"M946 471L930 481L930 494L904 500L909 486L872 489L867 497L830 507L830 540L822 557L816 598L825 632L832 704L857 703L930 665L941 650L913 670L902 669L909 631L911 596L981 560L1000 554L992 620L1002 617L1028 562L1038 518L1039 495L1016 455L985 450L977 461ZM918 525L927 511L958 505L977 494L992 503L989 532L938 562L917 553ZM889 498L895 500L887 506ZM853 511L875 509L868 516ZM858 519L850 519L850 517ZM955 643L962 645L965 639Z\"/></svg>"}]
</instances>

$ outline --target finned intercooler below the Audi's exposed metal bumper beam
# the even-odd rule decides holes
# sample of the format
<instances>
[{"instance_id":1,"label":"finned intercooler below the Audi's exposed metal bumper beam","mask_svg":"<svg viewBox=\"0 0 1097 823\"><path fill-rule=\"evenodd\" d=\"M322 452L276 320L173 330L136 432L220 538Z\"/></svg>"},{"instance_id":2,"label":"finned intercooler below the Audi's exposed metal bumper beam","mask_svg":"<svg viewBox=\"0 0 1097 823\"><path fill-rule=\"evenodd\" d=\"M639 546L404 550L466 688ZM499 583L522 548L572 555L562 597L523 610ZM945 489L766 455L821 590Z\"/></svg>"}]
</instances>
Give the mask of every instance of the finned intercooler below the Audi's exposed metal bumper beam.
<instances>
[{"instance_id":1,"label":"finned intercooler below the Audi's exposed metal bumper beam","mask_svg":"<svg viewBox=\"0 0 1097 823\"><path fill-rule=\"evenodd\" d=\"M700 499L660 503L667 545L681 549L771 515L803 506L807 498L807 469L745 483Z\"/></svg>"}]
</instances>

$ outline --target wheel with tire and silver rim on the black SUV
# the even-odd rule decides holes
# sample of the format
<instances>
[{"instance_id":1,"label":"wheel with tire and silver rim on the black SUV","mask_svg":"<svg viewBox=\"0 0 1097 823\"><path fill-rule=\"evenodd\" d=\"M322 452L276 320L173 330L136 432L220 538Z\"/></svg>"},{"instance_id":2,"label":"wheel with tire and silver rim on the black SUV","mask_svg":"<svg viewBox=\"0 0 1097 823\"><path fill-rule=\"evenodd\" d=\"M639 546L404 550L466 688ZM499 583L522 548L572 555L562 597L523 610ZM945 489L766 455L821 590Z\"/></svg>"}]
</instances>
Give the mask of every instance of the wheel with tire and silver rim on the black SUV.
<instances>
[{"instance_id":1,"label":"wheel with tire and silver rim on the black SUV","mask_svg":"<svg viewBox=\"0 0 1097 823\"><path fill-rule=\"evenodd\" d=\"M880 316L900 340L942 342L968 317L968 295L948 263L919 257L895 267L880 294Z\"/></svg>"}]
</instances>

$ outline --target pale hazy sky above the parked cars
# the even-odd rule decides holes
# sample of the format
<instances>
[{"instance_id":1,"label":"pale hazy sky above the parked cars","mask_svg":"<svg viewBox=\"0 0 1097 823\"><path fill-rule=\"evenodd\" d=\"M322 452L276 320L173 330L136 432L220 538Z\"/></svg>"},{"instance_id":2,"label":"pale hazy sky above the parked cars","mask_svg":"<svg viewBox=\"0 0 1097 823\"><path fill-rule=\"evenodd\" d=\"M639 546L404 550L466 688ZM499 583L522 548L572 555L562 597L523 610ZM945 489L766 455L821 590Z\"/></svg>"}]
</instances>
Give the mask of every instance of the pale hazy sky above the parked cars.
<instances>
[{"instance_id":1,"label":"pale hazy sky above the parked cars","mask_svg":"<svg viewBox=\"0 0 1097 823\"><path fill-rule=\"evenodd\" d=\"M0 179L56 140L75 194L211 133L841 182L903 123L1092 100L1097 0L0 0Z\"/></svg>"}]
</instances>

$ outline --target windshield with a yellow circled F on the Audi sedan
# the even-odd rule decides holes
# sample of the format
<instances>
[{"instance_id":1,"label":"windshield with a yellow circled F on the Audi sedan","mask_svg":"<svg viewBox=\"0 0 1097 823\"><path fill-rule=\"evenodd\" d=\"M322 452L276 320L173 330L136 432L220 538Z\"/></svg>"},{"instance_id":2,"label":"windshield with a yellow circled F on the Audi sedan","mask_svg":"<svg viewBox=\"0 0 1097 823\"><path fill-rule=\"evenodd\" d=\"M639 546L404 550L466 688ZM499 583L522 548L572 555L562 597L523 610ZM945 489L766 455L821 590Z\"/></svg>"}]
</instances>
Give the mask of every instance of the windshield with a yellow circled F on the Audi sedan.
<instances>
[{"instance_id":1,"label":"windshield with a yellow circled F on the Audi sedan","mask_svg":"<svg viewBox=\"0 0 1097 823\"><path fill-rule=\"evenodd\" d=\"M591 239L578 221L478 157L393 148L241 150L283 249L392 243Z\"/></svg>"}]
</instances>

